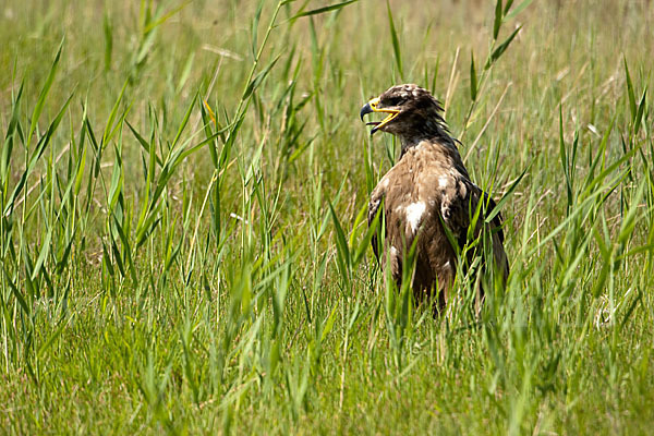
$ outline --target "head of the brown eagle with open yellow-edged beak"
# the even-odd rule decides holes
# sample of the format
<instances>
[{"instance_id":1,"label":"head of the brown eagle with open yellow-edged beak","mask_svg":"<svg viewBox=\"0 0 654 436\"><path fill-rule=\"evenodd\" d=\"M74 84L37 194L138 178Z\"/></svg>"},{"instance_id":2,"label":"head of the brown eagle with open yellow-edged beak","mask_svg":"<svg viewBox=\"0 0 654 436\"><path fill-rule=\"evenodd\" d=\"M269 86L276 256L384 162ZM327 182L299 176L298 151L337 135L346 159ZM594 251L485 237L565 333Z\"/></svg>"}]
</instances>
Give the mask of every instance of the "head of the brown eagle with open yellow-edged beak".
<instances>
[{"instance_id":1,"label":"head of the brown eagle with open yellow-edged beak","mask_svg":"<svg viewBox=\"0 0 654 436\"><path fill-rule=\"evenodd\" d=\"M427 89L417 85L390 87L361 108L361 120L372 112L384 112L387 116L379 122L366 123L373 125L371 135L377 131L392 133L401 137L402 142L433 135L449 138L440 102Z\"/></svg>"}]
</instances>

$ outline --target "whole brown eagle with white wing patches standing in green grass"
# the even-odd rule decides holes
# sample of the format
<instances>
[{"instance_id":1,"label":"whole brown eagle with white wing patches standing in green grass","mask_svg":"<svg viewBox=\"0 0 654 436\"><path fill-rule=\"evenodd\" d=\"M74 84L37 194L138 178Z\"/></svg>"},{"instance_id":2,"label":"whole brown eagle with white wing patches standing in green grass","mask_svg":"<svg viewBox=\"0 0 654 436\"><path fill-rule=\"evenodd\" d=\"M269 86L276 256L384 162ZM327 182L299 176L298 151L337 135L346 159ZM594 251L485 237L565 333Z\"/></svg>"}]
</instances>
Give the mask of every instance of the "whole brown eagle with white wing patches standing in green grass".
<instances>
[{"instance_id":1,"label":"whole brown eagle with white wing patches standing in green grass","mask_svg":"<svg viewBox=\"0 0 654 436\"><path fill-rule=\"evenodd\" d=\"M509 264L501 216L494 211L493 198L470 180L440 102L417 85L397 85L365 104L361 120L374 112L386 118L366 123L373 126L371 136L386 132L401 143L399 160L373 190L368 203L368 226L377 214L383 217L379 228L385 232L384 242L378 246L376 237L372 241L382 268L390 268L399 289L402 265L412 259L414 300L420 304L437 295L435 307L439 312L452 298L459 262L465 272L489 272L484 258L492 257L492 276L506 283ZM467 244L473 249L463 254ZM484 250L488 253L485 257ZM475 264L475 258L482 262ZM481 303L482 280L476 292Z\"/></svg>"}]
</instances>

